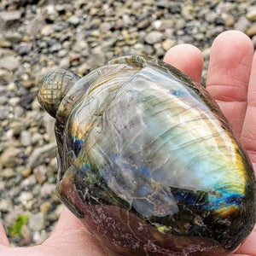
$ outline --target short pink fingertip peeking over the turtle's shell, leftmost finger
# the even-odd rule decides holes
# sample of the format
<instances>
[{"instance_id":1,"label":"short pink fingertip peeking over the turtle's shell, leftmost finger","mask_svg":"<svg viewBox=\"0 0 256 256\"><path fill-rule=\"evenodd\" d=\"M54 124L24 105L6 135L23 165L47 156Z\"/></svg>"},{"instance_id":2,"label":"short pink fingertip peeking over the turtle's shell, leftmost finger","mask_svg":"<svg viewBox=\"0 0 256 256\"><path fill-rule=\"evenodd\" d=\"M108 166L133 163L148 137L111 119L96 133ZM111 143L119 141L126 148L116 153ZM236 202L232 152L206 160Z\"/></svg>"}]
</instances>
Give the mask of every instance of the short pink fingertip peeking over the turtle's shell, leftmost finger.
<instances>
[{"instance_id":1,"label":"short pink fingertip peeking over the turtle's shell, leftmost finger","mask_svg":"<svg viewBox=\"0 0 256 256\"><path fill-rule=\"evenodd\" d=\"M179 44L169 49L164 61L186 73L195 81L201 81L203 57L200 49L191 44Z\"/></svg>"}]
</instances>

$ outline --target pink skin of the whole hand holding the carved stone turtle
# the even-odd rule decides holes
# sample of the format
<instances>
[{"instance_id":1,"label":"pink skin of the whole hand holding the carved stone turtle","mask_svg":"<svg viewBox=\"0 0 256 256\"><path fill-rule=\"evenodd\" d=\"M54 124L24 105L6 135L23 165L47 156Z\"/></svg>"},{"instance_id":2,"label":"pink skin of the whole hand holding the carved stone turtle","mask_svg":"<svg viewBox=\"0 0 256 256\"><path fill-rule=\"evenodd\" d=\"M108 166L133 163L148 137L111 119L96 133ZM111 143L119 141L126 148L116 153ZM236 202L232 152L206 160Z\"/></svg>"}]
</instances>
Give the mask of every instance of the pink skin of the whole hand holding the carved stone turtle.
<instances>
[{"instance_id":1,"label":"pink skin of the whole hand holding the carved stone turtle","mask_svg":"<svg viewBox=\"0 0 256 256\"><path fill-rule=\"evenodd\" d=\"M201 51L190 44L170 49L164 58L169 64L201 80ZM242 32L221 33L213 42L207 75L207 90L218 102L247 150L256 170L256 55L253 43ZM42 245L9 247L0 223L0 255L119 255L95 241L73 213L64 208L55 230ZM233 256L256 256L256 226Z\"/></svg>"}]
</instances>

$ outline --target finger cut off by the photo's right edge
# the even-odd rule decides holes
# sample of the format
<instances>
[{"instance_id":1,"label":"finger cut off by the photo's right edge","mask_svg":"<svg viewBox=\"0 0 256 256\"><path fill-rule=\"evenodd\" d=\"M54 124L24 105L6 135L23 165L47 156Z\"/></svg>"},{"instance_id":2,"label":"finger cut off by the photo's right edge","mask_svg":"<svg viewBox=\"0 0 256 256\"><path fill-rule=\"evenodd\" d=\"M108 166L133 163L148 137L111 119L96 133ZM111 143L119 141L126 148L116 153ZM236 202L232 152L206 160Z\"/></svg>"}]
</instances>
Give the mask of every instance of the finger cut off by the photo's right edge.
<instances>
[{"instance_id":1,"label":"finger cut off by the photo's right edge","mask_svg":"<svg viewBox=\"0 0 256 256\"><path fill-rule=\"evenodd\" d=\"M253 57L252 71L247 94L247 112L241 131L241 142L256 170L256 54Z\"/></svg>"}]
</instances>

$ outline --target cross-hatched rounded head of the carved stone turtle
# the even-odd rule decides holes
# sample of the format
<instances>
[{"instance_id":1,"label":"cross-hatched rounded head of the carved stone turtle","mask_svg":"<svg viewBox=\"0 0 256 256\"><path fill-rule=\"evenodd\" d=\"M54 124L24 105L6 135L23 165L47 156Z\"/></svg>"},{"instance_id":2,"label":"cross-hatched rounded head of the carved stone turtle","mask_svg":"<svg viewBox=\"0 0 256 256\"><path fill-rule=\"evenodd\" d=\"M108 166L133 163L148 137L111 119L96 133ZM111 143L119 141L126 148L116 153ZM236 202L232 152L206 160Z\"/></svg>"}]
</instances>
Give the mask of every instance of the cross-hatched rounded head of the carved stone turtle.
<instances>
[{"instance_id":1,"label":"cross-hatched rounded head of the carved stone turtle","mask_svg":"<svg viewBox=\"0 0 256 256\"><path fill-rule=\"evenodd\" d=\"M62 99L79 79L78 75L64 69L46 73L41 79L38 102L55 118Z\"/></svg>"}]
</instances>

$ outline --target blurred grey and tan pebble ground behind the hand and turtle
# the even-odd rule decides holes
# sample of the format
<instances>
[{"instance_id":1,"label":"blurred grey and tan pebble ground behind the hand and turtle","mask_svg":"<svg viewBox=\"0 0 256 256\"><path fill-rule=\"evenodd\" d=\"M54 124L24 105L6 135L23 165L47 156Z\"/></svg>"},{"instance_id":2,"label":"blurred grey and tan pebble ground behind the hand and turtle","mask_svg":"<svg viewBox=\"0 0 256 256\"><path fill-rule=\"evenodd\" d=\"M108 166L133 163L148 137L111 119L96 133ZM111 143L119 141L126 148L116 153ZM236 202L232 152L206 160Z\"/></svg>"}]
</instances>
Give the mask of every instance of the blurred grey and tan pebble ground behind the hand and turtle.
<instances>
[{"instance_id":1,"label":"blurred grey and tan pebble ground behind the hand and turtle","mask_svg":"<svg viewBox=\"0 0 256 256\"><path fill-rule=\"evenodd\" d=\"M61 67L83 76L120 55L162 59L183 43L199 47L207 67L220 32L245 32L256 47L255 21L255 0L2 0L0 221L11 245L44 241L62 209L54 122L36 97L42 74Z\"/></svg>"}]
</instances>

